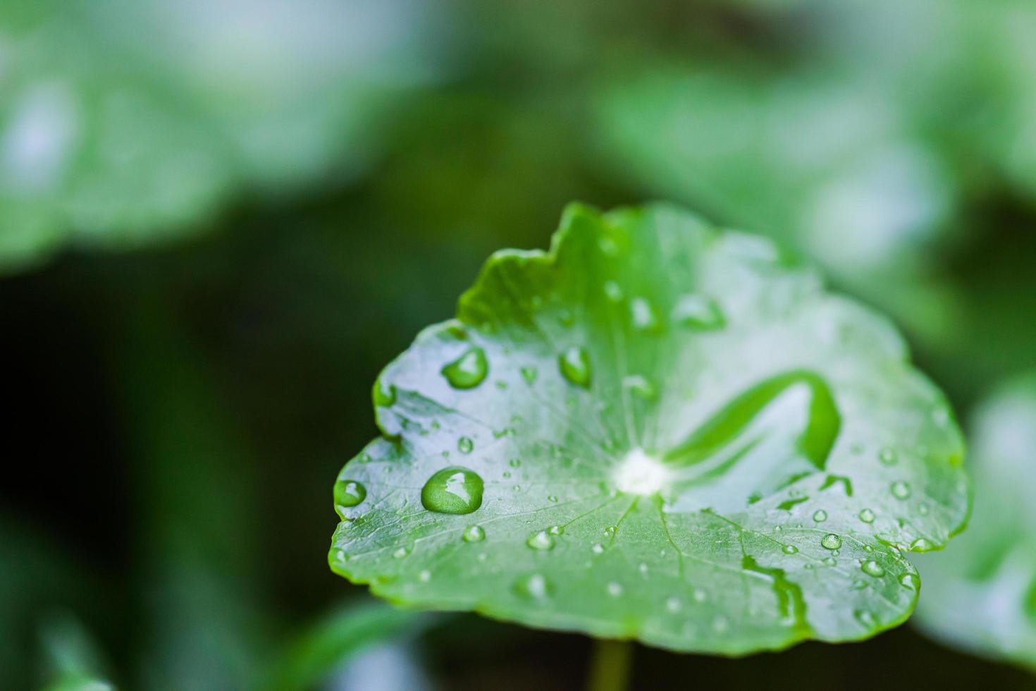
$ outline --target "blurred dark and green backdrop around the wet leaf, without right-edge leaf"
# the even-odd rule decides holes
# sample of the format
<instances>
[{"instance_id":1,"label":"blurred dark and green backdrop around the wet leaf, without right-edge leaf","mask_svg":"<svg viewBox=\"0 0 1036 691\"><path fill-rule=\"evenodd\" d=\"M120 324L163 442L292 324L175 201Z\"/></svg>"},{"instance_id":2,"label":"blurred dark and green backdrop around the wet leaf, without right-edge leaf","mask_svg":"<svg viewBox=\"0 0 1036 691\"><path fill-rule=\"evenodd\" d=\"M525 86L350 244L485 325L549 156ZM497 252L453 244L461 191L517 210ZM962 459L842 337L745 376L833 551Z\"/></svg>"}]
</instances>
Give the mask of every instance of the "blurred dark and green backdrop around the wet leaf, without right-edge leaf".
<instances>
[{"instance_id":1,"label":"blurred dark and green backdrop around the wet leaf, without right-edge leaf","mask_svg":"<svg viewBox=\"0 0 1036 691\"><path fill-rule=\"evenodd\" d=\"M568 201L664 198L892 315L968 421L1036 368L1034 36L1023 0L3 3L0 688L579 688L582 637L327 569L379 369ZM636 654L702 680L1034 684L910 625Z\"/></svg>"}]
</instances>

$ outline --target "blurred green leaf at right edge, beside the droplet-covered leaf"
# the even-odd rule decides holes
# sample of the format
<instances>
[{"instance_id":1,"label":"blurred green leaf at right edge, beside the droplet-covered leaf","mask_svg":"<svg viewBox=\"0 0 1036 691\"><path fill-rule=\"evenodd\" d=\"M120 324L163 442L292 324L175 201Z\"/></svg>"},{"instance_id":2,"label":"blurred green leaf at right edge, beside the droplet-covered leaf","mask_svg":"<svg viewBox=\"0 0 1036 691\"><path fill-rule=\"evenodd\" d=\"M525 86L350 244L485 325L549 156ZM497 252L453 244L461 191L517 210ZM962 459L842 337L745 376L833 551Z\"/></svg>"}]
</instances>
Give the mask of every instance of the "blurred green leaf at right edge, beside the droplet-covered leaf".
<instances>
[{"instance_id":1,"label":"blurred green leaf at right edge, beside the droplet-covered leaf","mask_svg":"<svg viewBox=\"0 0 1036 691\"><path fill-rule=\"evenodd\" d=\"M975 512L959 544L919 560L916 621L956 647L1036 670L1036 374L980 408L974 439Z\"/></svg>"}]
</instances>

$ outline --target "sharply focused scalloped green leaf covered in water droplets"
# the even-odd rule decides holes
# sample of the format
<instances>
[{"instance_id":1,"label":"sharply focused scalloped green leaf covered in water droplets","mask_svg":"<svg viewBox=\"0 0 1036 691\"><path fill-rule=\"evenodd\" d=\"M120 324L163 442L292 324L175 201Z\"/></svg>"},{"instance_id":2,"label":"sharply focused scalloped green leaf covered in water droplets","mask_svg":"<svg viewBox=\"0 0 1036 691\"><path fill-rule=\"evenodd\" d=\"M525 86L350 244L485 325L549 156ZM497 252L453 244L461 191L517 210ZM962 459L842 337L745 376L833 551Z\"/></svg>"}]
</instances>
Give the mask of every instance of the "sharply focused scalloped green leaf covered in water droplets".
<instances>
[{"instance_id":1,"label":"sharply focused scalloped green leaf covered in water droplets","mask_svg":"<svg viewBox=\"0 0 1036 691\"><path fill-rule=\"evenodd\" d=\"M484 379L452 385L471 349ZM376 391L328 558L413 605L707 653L864 638L914 606L901 552L968 511L895 330L665 205L497 253Z\"/></svg>"}]
</instances>

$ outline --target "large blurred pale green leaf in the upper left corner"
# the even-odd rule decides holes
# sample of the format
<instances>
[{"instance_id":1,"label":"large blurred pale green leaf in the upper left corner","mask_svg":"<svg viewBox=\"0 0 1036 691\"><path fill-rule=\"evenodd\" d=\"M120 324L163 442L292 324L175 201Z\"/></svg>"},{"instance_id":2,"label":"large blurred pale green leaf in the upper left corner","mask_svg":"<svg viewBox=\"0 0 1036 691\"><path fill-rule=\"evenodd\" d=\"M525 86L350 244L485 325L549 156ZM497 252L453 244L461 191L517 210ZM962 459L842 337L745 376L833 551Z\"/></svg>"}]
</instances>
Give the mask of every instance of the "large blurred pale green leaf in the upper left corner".
<instances>
[{"instance_id":1,"label":"large blurred pale green leaf in the upper left corner","mask_svg":"<svg viewBox=\"0 0 1036 691\"><path fill-rule=\"evenodd\" d=\"M362 171L434 63L423 10L369 4L4 3L0 271L183 237L244 192Z\"/></svg>"}]
</instances>

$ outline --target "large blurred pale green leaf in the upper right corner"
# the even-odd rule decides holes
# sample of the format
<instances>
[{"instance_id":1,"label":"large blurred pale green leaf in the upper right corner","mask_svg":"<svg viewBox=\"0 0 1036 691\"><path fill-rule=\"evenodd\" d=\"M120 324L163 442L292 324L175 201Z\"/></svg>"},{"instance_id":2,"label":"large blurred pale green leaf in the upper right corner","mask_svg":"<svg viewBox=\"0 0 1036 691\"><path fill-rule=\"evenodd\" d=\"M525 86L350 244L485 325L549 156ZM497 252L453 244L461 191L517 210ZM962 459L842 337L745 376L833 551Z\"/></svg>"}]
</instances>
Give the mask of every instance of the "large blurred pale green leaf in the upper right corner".
<instances>
[{"instance_id":1,"label":"large blurred pale green leaf in the upper right corner","mask_svg":"<svg viewBox=\"0 0 1036 691\"><path fill-rule=\"evenodd\" d=\"M600 161L646 194L784 238L932 350L974 321L970 209L1036 199L1031 3L797 2L766 41L650 56L599 94ZM630 177L632 176L632 177ZM959 355L959 351L954 353Z\"/></svg>"}]
</instances>

